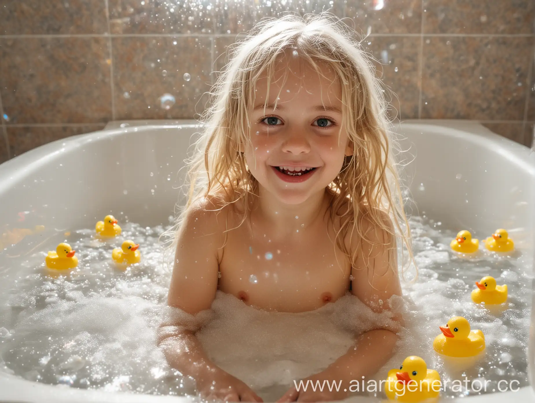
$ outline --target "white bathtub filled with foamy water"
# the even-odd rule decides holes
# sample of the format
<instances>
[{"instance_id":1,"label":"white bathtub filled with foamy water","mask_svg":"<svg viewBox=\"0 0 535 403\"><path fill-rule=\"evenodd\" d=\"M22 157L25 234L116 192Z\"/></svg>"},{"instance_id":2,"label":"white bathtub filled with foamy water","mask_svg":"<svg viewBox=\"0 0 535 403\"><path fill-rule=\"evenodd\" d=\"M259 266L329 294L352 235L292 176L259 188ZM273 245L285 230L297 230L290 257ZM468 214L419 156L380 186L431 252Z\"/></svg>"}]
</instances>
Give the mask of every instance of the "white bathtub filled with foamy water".
<instances>
[{"instance_id":1,"label":"white bathtub filled with foamy water","mask_svg":"<svg viewBox=\"0 0 535 403\"><path fill-rule=\"evenodd\" d=\"M425 211L449 227L477 228L485 233L501 226L517 229L518 247L533 250L530 209L535 201L535 156L530 155L528 148L501 138L481 125L455 122L447 125L450 127L420 121L399 127L400 133L407 137L402 147L412 147L411 153L416 155L407 174L413 178L410 188L418 211ZM22 216L26 227L37 224L56 229L92 227L97 219L102 219L103 211L127 211L129 220L142 225L167 223L174 204L179 201L175 186L182 183L184 170L179 176L177 172L184 165L194 132L192 122L152 122L136 127L132 123L127 127L112 124L104 131L59 140L7 161L0 165L0 230L6 224L22 226L19 222ZM149 172L154 175L150 176ZM151 189L156 192L152 193ZM26 214L21 213L25 211ZM32 237L39 236L30 235L9 250L16 252L26 242L35 242ZM5 255L0 253L0 325L9 319L5 291L17 278L17 268L10 266ZM532 372L533 356L532 351L529 360ZM50 386L0 372L0 401L171 399L180 398ZM518 392L468 399L473 403L503 399L520 403L535 401L535 394L531 387L523 387Z\"/></svg>"}]
</instances>

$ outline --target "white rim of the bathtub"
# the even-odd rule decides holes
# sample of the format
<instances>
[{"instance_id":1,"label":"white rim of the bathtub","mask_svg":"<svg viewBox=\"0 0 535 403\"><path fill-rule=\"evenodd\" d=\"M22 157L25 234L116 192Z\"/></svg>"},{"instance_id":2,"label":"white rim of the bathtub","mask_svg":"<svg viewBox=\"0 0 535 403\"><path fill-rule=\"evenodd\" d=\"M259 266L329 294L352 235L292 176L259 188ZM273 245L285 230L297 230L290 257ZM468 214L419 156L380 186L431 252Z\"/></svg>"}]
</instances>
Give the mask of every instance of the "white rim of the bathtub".
<instances>
[{"instance_id":1,"label":"white rim of the bathtub","mask_svg":"<svg viewBox=\"0 0 535 403\"><path fill-rule=\"evenodd\" d=\"M104 127L91 133L79 134L65 139L59 139L40 147L27 151L24 154L13 157L0 164L0 194L9 192L10 185L23 179L28 174L39 170L40 166L59 158L59 155L66 151L72 151L83 147L89 142L104 141L105 139L121 136L132 132L148 132L152 130L170 129L175 127L188 127L198 130L200 124L194 120L158 120L158 121L118 121L111 122ZM120 127L121 123L128 123L128 127ZM115 126L114 126L115 125ZM499 149L500 153L507 159L526 170L535 178L535 164L533 158L535 155L529 153L529 148L516 143L512 140L503 138L493 133L483 125L474 121L445 121L445 120L407 120L394 126L398 128L408 128L409 130L422 130L432 132L437 135L453 135L455 138L462 138L469 141L472 145L480 146L492 150ZM445 131L446 129L446 131ZM470 396L470 402L491 402L498 403L501 399L525 399L518 401L533 401L535 393L533 386L528 385L520 388L517 392L495 392L484 394L482 396ZM105 392L102 390L83 390L65 387L62 385L49 385L32 381L27 381L19 376L0 372L0 401L8 400L12 402L70 402L74 399L81 401L102 401L102 402L154 402L174 399L184 399L183 403L193 401L192 397L175 397L175 396L155 396L148 394L134 394L128 392ZM461 399L448 399L454 403L461 402ZM348 401L372 402L378 401L377 398L353 397Z\"/></svg>"}]
</instances>

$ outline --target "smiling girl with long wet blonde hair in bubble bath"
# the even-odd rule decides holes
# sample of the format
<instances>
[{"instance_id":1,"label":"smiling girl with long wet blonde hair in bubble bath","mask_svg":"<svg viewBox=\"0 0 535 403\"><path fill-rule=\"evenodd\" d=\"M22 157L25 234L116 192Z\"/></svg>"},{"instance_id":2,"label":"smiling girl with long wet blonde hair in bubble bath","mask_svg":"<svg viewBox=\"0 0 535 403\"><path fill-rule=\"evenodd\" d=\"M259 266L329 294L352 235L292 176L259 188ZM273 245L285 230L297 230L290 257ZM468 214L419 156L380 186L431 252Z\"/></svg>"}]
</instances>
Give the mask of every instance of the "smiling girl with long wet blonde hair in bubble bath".
<instances>
[{"instance_id":1,"label":"smiling girl with long wet blonde hair in bubble bath","mask_svg":"<svg viewBox=\"0 0 535 403\"><path fill-rule=\"evenodd\" d=\"M409 235L386 103L353 36L331 14L288 15L261 22L235 48L190 165L170 307L201 317L220 290L299 313L350 292L380 313L401 295L396 232ZM210 361L194 322L162 324L170 366L195 378L203 397L262 401ZM367 331L307 379L371 376L397 339L392 329ZM292 387L279 401L343 399L347 388Z\"/></svg>"}]
</instances>

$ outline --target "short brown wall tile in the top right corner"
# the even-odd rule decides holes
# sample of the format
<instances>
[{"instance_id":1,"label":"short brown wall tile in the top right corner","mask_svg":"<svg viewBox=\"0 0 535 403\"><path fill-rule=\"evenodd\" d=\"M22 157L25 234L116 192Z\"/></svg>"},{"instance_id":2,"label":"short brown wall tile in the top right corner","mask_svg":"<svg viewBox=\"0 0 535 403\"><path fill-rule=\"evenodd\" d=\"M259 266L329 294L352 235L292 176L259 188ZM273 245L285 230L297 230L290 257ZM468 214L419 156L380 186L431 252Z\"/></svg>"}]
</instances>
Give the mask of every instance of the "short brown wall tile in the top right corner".
<instances>
[{"instance_id":1,"label":"short brown wall tile in the top right corner","mask_svg":"<svg viewBox=\"0 0 535 403\"><path fill-rule=\"evenodd\" d=\"M533 0L424 0L426 34L531 34Z\"/></svg>"}]
</instances>

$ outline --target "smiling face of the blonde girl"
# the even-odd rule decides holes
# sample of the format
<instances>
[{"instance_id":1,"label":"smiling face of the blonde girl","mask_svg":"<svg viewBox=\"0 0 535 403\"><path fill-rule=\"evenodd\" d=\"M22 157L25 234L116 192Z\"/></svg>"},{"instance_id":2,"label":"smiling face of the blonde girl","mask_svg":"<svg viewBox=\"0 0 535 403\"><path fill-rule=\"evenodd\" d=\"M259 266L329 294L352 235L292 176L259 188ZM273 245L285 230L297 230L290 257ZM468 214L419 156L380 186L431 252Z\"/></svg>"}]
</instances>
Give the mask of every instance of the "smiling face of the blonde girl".
<instances>
[{"instance_id":1,"label":"smiling face of the blonde girl","mask_svg":"<svg viewBox=\"0 0 535 403\"><path fill-rule=\"evenodd\" d=\"M320 75L291 53L275 70L269 90L266 77L257 81L245 157L261 187L284 203L300 204L325 190L353 150L341 127L342 92L335 73L320 65Z\"/></svg>"}]
</instances>

